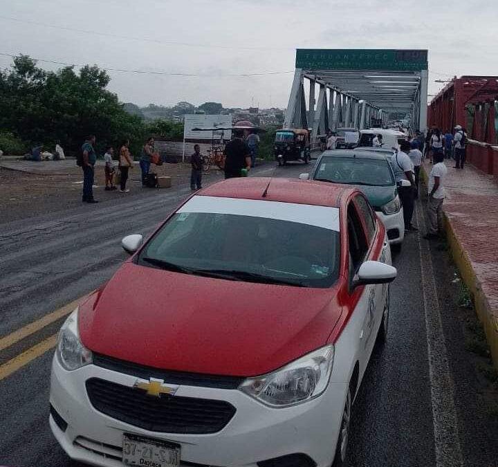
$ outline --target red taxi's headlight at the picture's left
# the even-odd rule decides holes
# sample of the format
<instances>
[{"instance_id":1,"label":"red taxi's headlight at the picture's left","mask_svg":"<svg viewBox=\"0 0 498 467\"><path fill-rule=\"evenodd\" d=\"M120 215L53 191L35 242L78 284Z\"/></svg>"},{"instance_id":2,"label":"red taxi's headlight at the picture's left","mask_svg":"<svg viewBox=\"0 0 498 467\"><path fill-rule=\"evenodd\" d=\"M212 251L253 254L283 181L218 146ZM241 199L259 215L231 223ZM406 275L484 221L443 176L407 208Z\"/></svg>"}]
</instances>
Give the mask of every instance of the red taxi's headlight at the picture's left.
<instances>
[{"instance_id":1,"label":"red taxi's headlight at the picture's left","mask_svg":"<svg viewBox=\"0 0 498 467\"><path fill-rule=\"evenodd\" d=\"M57 357L61 365L72 372L75 369L92 363L92 353L80 341L77 329L77 313L75 309L59 331L57 342Z\"/></svg>"}]
</instances>

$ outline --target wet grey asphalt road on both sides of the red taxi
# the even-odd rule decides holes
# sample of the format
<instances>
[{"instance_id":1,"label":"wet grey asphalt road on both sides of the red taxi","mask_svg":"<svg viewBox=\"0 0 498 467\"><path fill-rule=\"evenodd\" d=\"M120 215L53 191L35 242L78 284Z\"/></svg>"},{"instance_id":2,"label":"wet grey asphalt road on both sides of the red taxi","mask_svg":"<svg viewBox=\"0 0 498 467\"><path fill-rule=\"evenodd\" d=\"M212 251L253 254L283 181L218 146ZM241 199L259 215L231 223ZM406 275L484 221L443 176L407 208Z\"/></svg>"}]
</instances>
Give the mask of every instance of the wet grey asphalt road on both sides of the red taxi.
<instances>
[{"instance_id":1,"label":"wet grey asphalt road on both sides of the red taxi","mask_svg":"<svg viewBox=\"0 0 498 467\"><path fill-rule=\"evenodd\" d=\"M264 165L255 172L304 170ZM53 349L44 352L43 345L64 318L9 346L6 336L109 280L126 257L121 237L147 235L189 193L185 183L174 192L0 223L0 464L76 465L48 428ZM498 466L497 417L479 399L463 349L448 253L411 234L394 264L389 340L371 360L353 405L350 466ZM33 349L37 358L2 376L6 364L29 360Z\"/></svg>"}]
</instances>

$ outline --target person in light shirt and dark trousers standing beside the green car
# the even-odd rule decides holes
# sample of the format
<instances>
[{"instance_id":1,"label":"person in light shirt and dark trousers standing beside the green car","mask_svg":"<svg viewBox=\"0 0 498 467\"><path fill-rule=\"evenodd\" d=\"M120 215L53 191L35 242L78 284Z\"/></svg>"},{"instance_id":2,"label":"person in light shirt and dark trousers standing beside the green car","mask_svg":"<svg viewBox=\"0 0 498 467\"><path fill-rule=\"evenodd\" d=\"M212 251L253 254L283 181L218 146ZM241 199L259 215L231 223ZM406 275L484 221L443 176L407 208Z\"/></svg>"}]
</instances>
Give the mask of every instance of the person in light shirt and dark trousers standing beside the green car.
<instances>
[{"instance_id":1,"label":"person in light shirt and dark trousers standing beside the green car","mask_svg":"<svg viewBox=\"0 0 498 467\"><path fill-rule=\"evenodd\" d=\"M416 185L414 178L414 166L408 156L410 152L409 141L400 142L399 150L392 156L392 167L401 205L403 205L403 219L405 221L405 231L416 232L418 229L412 226L414 212L414 200L416 195Z\"/></svg>"}]
</instances>

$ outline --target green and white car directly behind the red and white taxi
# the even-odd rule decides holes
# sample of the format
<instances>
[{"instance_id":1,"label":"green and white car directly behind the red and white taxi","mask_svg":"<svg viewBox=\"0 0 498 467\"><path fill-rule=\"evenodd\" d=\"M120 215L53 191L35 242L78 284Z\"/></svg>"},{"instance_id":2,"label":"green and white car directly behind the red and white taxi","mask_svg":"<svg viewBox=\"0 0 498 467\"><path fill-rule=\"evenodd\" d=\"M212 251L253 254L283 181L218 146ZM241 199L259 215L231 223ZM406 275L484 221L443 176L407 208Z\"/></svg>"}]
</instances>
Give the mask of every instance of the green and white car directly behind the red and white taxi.
<instances>
[{"instance_id":1,"label":"green and white car directly behind the red and white taxi","mask_svg":"<svg viewBox=\"0 0 498 467\"><path fill-rule=\"evenodd\" d=\"M405 237L403 207L390 163L392 152L380 154L385 151L387 149L324 152L318 158L311 178L354 185L361 190L384 223L389 243L400 245Z\"/></svg>"}]
</instances>

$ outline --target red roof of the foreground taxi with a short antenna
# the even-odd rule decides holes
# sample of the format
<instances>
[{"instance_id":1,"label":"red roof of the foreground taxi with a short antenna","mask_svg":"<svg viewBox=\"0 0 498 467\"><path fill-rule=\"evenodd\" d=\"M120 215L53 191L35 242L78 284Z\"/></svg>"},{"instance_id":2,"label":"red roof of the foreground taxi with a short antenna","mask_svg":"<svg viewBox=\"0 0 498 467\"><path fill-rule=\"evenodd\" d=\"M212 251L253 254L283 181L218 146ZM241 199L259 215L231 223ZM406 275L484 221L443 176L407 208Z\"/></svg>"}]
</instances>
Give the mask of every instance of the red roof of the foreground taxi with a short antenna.
<instances>
[{"instance_id":1,"label":"red roof of the foreground taxi with a short antenna","mask_svg":"<svg viewBox=\"0 0 498 467\"><path fill-rule=\"evenodd\" d=\"M356 191L347 185L333 185L326 182L299 180L299 178L240 177L214 183L196 195L338 208L344 196Z\"/></svg>"}]
</instances>

